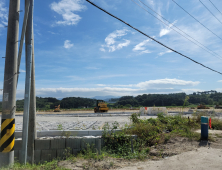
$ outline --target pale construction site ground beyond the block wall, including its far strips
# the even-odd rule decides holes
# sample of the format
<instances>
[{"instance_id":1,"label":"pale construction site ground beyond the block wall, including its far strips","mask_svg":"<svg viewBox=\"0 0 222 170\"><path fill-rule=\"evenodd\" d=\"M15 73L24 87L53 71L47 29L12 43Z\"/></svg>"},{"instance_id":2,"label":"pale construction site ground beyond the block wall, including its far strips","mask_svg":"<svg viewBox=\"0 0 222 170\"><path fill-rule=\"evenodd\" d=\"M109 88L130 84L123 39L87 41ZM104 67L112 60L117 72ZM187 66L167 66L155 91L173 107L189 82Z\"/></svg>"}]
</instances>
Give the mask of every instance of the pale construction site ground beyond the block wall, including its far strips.
<instances>
[{"instance_id":1,"label":"pale construction site ground beyond the block wall, including its far strips","mask_svg":"<svg viewBox=\"0 0 222 170\"><path fill-rule=\"evenodd\" d=\"M169 115L174 115L181 112L188 112L189 108L168 108ZM213 110L206 109L206 110ZM195 111L195 110L194 110ZM221 109L216 109L216 112L222 112ZM126 123L130 123L129 116L131 113L139 112L139 110L110 110L108 113L97 116L91 111L61 111L61 112L37 112L36 127L38 131L43 130L101 130L105 123L112 126L115 121L119 123L119 128ZM170 113L172 112L172 113ZM15 114L15 129L22 130L23 112ZM188 114L186 116L192 116ZM141 116L141 118L155 118L156 116ZM0 115L1 118L1 115Z\"/></svg>"}]
</instances>

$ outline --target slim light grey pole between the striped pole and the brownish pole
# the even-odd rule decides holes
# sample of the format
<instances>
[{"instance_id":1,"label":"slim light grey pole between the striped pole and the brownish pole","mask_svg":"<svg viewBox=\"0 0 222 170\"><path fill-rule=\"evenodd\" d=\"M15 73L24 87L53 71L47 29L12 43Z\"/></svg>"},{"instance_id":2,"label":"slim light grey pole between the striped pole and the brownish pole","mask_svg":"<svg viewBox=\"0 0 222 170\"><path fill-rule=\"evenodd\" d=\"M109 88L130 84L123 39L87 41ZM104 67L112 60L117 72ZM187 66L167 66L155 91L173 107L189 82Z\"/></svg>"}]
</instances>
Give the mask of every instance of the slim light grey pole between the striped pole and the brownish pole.
<instances>
[{"instance_id":1,"label":"slim light grey pole between the striped pole and the brownish pole","mask_svg":"<svg viewBox=\"0 0 222 170\"><path fill-rule=\"evenodd\" d=\"M28 144L28 127L29 127L29 109L30 109L30 92L31 92L31 72L32 72L32 20L33 20L33 1L30 1L26 36L25 36L25 52L26 52L26 78L25 78L25 101L23 113L23 130L22 130L22 151L21 163L26 164L27 161L27 144Z\"/></svg>"}]
</instances>

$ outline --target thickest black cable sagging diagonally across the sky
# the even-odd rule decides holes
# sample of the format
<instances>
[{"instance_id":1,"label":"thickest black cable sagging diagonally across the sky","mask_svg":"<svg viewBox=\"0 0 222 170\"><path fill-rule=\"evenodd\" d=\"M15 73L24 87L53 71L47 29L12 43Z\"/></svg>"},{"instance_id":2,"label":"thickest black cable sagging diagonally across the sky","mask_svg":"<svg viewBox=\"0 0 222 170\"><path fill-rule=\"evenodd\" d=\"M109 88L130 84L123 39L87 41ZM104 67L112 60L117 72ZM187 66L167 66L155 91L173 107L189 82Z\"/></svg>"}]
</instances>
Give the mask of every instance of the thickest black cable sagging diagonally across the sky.
<instances>
[{"instance_id":1,"label":"thickest black cable sagging diagonally across the sky","mask_svg":"<svg viewBox=\"0 0 222 170\"><path fill-rule=\"evenodd\" d=\"M174 50L174 49L172 49L172 48L168 47L167 45L165 45L165 44L163 44L163 43L159 42L159 41L158 41L158 40L156 40L155 38L152 38L151 36L149 36L149 35L145 34L144 32L142 32L142 31L138 30L137 28L135 28L135 27L131 26L130 24L128 24L128 23L126 23L125 21L123 21L122 19L120 19L120 18L118 18L118 17L114 16L113 14L109 13L108 11L104 10L103 8L101 8L101 7L99 7L98 5L94 4L93 2L91 2L91 1L89 1L89 0L86 0L86 1L87 1L87 2L89 2L90 4L92 4L93 6L95 6L96 8L100 9L101 11L103 11L103 12L107 13L107 14L108 14L108 15L110 15L111 17L116 18L116 19L117 19L117 20L119 20L120 22L122 22L122 23L124 23L124 24L128 25L129 27L131 27L132 29L136 30L137 32L139 32L139 33L141 33L141 34L145 35L146 37L150 38L151 40L153 40L153 41L157 42L158 44L160 44L160 45L164 46L165 48L167 48L167 49L169 49L169 50L171 50L171 51L173 51L173 52L175 52L175 53L177 53L177 54L179 54L179 55L181 55L181 56L183 56L183 57L185 57L185 58L187 58L187 59L189 59L189 60L193 61L193 62L194 62L194 63L196 63L196 64L201 65L202 67L205 67L205 68L207 68L207 69L209 69L209 70L211 70L211 71L214 71L214 72L216 72L216 73L218 73L218 74L221 74L221 75L222 75L222 73L221 73L221 72L216 71L216 70L214 70L214 69L212 69L212 68L210 68L210 67L207 67L207 66L205 66L205 65L203 65L203 64L201 64L201 63L199 63L199 62L197 62L197 61L195 61L195 60L193 60L192 58L187 57L186 55L181 54L180 52L178 52L178 51L176 51L176 50Z\"/></svg>"}]
</instances>

